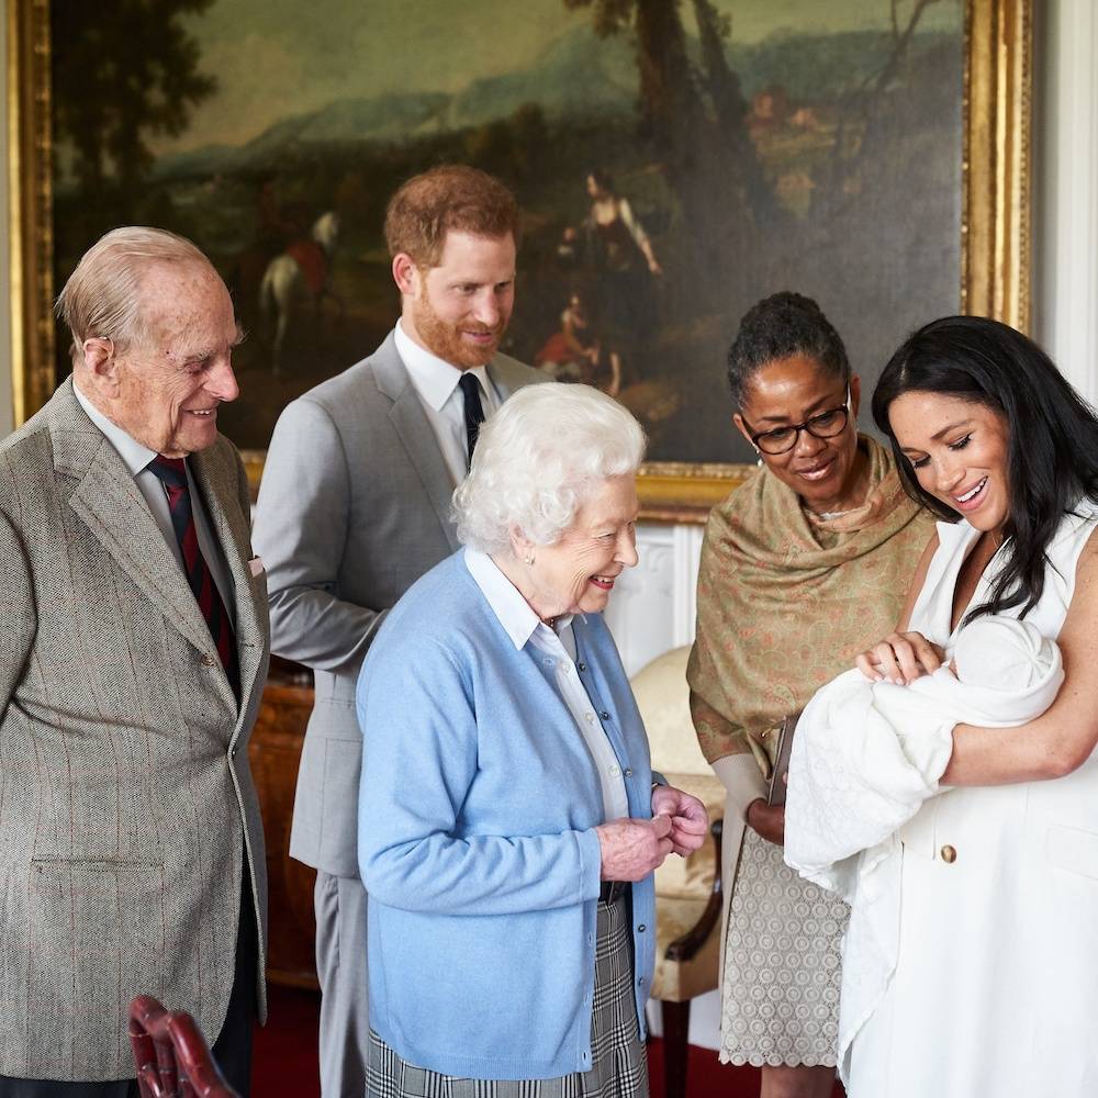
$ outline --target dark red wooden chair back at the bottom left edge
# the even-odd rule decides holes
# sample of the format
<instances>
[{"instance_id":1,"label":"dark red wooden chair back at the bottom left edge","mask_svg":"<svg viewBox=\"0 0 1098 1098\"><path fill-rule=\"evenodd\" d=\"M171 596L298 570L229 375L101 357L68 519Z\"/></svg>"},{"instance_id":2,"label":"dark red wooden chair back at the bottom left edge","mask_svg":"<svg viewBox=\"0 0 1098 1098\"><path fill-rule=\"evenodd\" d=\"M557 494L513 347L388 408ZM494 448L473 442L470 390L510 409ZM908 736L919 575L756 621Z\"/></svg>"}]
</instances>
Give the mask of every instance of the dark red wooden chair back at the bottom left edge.
<instances>
[{"instance_id":1,"label":"dark red wooden chair back at the bottom left edge","mask_svg":"<svg viewBox=\"0 0 1098 1098\"><path fill-rule=\"evenodd\" d=\"M141 1098L239 1098L186 1011L138 995L130 1004L130 1044Z\"/></svg>"}]
</instances>

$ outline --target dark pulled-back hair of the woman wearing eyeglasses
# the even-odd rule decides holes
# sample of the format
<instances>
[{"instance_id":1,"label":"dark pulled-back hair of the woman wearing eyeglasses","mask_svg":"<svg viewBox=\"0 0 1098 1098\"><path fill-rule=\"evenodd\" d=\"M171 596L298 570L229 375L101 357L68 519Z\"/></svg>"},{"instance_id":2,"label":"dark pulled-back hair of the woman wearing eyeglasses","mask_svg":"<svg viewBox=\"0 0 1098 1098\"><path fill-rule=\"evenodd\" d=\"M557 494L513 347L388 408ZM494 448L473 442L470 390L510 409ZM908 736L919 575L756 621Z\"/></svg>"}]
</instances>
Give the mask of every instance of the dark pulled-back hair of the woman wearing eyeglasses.
<instances>
[{"instance_id":1,"label":"dark pulled-back hair of the woman wearing eyeglasses","mask_svg":"<svg viewBox=\"0 0 1098 1098\"><path fill-rule=\"evenodd\" d=\"M759 370L793 355L814 359L825 373L850 381L847 348L824 310L811 298L785 290L743 314L728 348L728 388L736 408L743 407L743 391Z\"/></svg>"}]
</instances>

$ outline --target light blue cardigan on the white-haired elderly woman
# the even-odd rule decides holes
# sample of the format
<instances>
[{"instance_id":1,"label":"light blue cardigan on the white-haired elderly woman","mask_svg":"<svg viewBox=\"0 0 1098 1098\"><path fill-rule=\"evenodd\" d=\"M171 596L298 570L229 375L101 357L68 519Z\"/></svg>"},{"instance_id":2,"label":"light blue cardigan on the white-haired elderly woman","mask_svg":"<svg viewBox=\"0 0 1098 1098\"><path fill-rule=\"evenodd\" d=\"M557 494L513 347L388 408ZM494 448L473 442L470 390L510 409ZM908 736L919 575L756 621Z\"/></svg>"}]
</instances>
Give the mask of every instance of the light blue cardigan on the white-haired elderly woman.
<instances>
[{"instance_id":1,"label":"light blue cardigan on the white-haired elderly woman","mask_svg":"<svg viewBox=\"0 0 1098 1098\"><path fill-rule=\"evenodd\" d=\"M630 815L647 819L648 740L621 660L601 616L572 626ZM516 650L462 551L390 610L362 666L358 719L371 1026L446 1075L587 1071L598 775L544 653ZM642 1039L654 916L649 876L632 887Z\"/></svg>"}]
</instances>

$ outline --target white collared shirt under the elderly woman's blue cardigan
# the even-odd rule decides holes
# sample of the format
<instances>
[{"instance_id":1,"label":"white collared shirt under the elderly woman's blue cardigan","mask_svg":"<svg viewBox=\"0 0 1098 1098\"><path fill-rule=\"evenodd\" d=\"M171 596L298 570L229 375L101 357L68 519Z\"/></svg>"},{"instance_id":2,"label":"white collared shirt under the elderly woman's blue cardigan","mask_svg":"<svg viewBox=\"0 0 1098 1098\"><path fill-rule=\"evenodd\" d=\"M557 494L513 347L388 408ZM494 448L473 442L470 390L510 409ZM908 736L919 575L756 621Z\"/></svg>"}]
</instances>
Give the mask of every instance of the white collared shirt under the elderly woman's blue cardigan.
<instances>
[{"instance_id":1,"label":"white collared shirt under the elderly woman's blue cardigan","mask_svg":"<svg viewBox=\"0 0 1098 1098\"><path fill-rule=\"evenodd\" d=\"M466 567L515 648L522 650L529 641L538 650L537 659L547 668L552 668L557 690L572 714L575 727L579 728L598 772L605 818L615 820L627 817L629 798L625 791L621 765L598 719L598 712L591 704L575 670L572 616L558 618L554 632L534 613L530 604L488 553L467 548Z\"/></svg>"}]
</instances>

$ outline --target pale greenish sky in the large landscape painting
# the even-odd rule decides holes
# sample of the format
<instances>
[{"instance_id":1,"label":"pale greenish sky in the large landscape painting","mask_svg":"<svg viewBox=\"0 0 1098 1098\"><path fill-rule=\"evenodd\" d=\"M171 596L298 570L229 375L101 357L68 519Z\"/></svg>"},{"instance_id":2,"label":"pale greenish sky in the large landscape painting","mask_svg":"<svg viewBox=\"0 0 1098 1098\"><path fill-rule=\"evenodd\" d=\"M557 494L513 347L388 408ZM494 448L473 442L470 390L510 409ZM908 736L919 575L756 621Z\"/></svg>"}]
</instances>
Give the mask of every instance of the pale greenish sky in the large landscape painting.
<instances>
[{"instance_id":1,"label":"pale greenish sky in the large landscape painting","mask_svg":"<svg viewBox=\"0 0 1098 1098\"><path fill-rule=\"evenodd\" d=\"M780 30L889 26L889 0L714 2L732 16L741 43ZM901 20L910 8L901 0ZM684 4L684 15L688 10ZM955 30L960 12L961 0L935 0L920 27ZM561 0L216 0L186 25L219 91L194 111L182 137L158 148L242 144L280 119L347 97L457 91L473 77L528 66L590 19Z\"/></svg>"}]
</instances>

